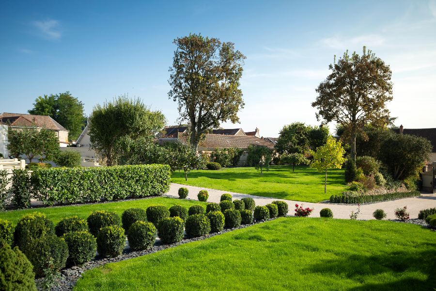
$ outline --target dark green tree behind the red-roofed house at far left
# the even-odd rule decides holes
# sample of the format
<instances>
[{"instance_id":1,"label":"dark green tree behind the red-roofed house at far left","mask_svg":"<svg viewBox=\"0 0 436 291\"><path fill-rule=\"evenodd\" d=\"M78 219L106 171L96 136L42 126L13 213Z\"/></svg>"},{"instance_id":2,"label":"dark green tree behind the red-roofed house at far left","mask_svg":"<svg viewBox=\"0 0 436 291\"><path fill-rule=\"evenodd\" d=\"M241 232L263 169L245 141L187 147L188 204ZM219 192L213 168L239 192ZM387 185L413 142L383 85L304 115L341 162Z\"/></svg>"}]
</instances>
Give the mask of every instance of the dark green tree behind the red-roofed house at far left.
<instances>
[{"instance_id":1,"label":"dark green tree behind the red-roofed house at far left","mask_svg":"<svg viewBox=\"0 0 436 291\"><path fill-rule=\"evenodd\" d=\"M83 103L73 97L70 92L39 96L35 99L33 106L33 109L28 111L29 114L50 116L70 131L69 139L77 138L82 132L82 127L86 122Z\"/></svg>"}]
</instances>

